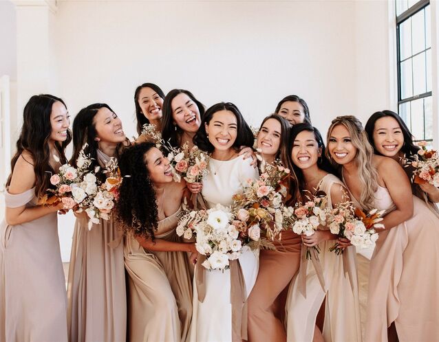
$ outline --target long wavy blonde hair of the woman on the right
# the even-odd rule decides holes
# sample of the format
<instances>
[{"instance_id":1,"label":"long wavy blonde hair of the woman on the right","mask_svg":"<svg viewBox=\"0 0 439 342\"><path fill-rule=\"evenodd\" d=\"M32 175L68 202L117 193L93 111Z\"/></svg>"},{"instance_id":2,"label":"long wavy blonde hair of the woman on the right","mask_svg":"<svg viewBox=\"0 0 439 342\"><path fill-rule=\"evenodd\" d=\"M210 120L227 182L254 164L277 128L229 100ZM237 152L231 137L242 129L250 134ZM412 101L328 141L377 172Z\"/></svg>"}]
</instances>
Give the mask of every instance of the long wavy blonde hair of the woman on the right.
<instances>
[{"instance_id":1,"label":"long wavy blonde hair of the woman on the right","mask_svg":"<svg viewBox=\"0 0 439 342\"><path fill-rule=\"evenodd\" d=\"M363 209L374 209L375 192L378 189L378 172L376 168L372 166L374 148L370 145L360 120L353 115L338 116L332 120L326 137L328 146L332 130L338 125L345 126L349 131L352 145L354 145L357 150L355 163L358 168L358 179L360 179L362 187L359 203ZM341 168L341 166L332 159L328 148L325 150L325 155L336 168Z\"/></svg>"}]
</instances>

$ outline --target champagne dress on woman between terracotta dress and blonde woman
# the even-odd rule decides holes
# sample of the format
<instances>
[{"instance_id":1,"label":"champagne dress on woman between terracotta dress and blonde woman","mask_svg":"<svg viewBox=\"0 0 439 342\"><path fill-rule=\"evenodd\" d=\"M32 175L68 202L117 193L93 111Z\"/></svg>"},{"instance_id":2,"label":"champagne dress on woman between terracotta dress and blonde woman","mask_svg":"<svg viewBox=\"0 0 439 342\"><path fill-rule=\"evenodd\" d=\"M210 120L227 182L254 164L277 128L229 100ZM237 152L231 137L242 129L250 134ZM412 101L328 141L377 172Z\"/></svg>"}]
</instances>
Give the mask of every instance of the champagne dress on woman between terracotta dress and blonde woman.
<instances>
[{"instance_id":1,"label":"champagne dress on woman between terracotta dress and blonde woman","mask_svg":"<svg viewBox=\"0 0 439 342\"><path fill-rule=\"evenodd\" d=\"M330 193L334 184L343 185L336 176L327 174L317 189L327 194L328 207L332 207ZM325 240L319 244L323 283L312 261L306 260L303 247L300 270L288 293L287 341L312 341L323 301L322 334L325 342L361 341L355 247L348 247L343 255L336 255L329 251L335 243L335 240Z\"/></svg>"}]
</instances>

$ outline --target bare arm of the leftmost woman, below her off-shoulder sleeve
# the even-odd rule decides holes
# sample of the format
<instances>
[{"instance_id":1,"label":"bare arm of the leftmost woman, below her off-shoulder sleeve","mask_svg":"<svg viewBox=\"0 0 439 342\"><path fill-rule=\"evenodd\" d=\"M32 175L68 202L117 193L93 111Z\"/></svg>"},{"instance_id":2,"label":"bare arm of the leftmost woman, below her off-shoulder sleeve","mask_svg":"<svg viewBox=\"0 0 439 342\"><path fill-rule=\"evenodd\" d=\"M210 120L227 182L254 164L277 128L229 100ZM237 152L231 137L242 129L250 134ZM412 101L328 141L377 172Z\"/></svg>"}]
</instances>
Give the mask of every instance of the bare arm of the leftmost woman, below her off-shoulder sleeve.
<instances>
[{"instance_id":1,"label":"bare arm of the leftmost woman, below her off-shoulder sleeve","mask_svg":"<svg viewBox=\"0 0 439 342\"><path fill-rule=\"evenodd\" d=\"M9 185L8 192L10 194L22 194L34 186L35 172L31 162L32 158L28 153L24 158L22 154L19 159L17 159ZM58 212L58 210L63 209L63 207L63 203L51 206L37 205L36 207L29 208L25 205L17 208L6 207L6 223L8 225L21 225L21 223L36 220L52 212Z\"/></svg>"}]
</instances>

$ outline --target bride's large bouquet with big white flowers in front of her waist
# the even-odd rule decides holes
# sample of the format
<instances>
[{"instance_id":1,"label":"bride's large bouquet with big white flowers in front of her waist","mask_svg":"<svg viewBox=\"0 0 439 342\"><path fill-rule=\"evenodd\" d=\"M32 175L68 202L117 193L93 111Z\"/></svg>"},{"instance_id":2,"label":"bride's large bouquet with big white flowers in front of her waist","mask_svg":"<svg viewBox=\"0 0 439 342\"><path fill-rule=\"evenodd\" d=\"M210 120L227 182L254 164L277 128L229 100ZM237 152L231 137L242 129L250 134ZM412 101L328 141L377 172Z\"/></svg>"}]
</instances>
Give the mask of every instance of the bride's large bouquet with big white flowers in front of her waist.
<instances>
[{"instance_id":1,"label":"bride's large bouquet with big white flowers in front of her waist","mask_svg":"<svg viewBox=\"0 0 439 342\"><path fill-rule=\"evenodd\" d=\"M237 225L231 208L219 204L208 210L184 211L176 232L188 239L195 233L195 247L207 257L202 266L219 270L228 269L229 260L239 258L251 236L246 226Z\"/></svg>"}]
</instances>

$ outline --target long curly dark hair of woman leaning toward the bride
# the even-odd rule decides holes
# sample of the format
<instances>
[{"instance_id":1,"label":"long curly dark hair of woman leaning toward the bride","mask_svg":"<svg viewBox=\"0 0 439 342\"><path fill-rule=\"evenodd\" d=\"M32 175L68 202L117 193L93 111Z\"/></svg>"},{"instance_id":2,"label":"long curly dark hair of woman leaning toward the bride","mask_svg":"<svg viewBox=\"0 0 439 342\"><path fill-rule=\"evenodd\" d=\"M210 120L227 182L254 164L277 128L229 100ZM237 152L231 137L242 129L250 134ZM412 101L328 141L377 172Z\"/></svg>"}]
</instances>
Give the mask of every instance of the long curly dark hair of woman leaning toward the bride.
<instances>
[{"instance_id":1,"label":"long curly dark hair of woman leaning toward the bride","mask_svg":"<svg viewBox=\"0 0 439 342\"><path fill-rule=\"evenodd\" d=\"M146 153L156 144L144 142L126 148L119 159L123 177L116 203L116 219L125 233L154 238L158 227L156 191L149 178Z\"/></svg>"}]
</instances>

